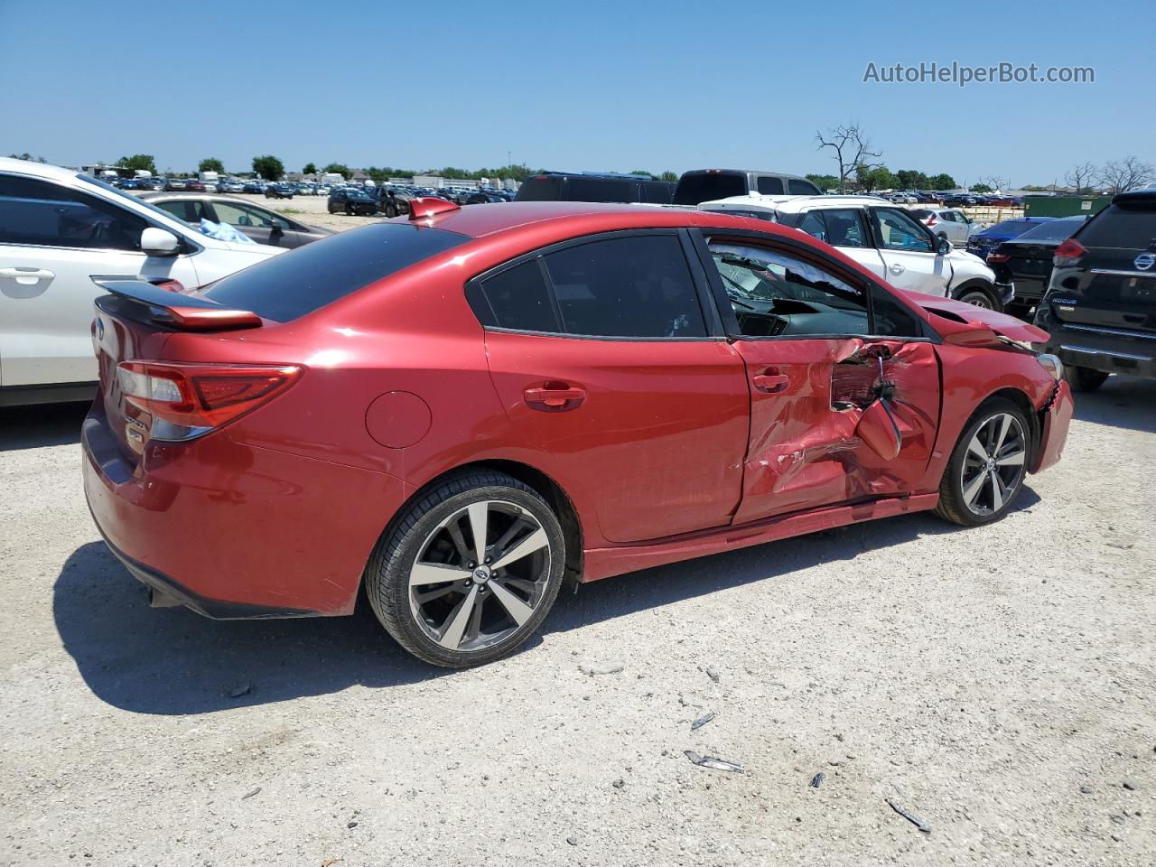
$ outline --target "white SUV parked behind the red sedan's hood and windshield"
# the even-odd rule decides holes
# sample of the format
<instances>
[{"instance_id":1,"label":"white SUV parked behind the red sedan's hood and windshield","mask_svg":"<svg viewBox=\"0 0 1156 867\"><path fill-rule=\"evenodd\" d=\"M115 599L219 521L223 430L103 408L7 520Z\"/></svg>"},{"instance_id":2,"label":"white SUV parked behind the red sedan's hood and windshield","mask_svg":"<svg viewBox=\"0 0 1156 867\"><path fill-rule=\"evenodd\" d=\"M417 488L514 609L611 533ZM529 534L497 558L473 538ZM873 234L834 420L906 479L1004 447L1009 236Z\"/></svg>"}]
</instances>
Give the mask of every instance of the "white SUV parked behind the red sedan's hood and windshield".
<instances>
[{"instance_id":1,"label":"white SUV parked behind the red sedan's hood and windshield","mask_svg":"<svg viewBox=\"0 0 1156 867\"><path fill-rule=\"evenodd\" d=\"M953 249L906 208L869 195L735 195L699 210L734 213L790 225L838 247L898 289L1002 311L1015 295L995 283L983 259Z\"/></svg>"}]
</instances>

